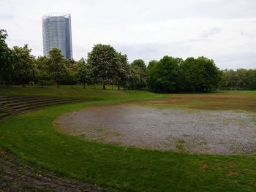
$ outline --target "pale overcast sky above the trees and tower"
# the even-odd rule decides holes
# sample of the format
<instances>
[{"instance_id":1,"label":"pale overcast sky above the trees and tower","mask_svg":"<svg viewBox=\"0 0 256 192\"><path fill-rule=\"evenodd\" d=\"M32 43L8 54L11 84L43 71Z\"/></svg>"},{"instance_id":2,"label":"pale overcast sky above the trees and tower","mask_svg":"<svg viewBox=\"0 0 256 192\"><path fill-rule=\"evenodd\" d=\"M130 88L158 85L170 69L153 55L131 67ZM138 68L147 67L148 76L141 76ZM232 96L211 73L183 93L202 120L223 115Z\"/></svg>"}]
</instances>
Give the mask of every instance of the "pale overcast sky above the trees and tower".
<instances>
[{"instance_id":1,"label":"pale overcast sky above the trees and tower","mask_svg":"<svg viewBox=\"0 0 256 192\"><path fill-rule=\"evenodd\" d=\"M73 58L98 43L129 62L205 56L219 69L256 69L255 0L0 0L7 44L42 55L42 15L71 14Z\"/></svg>"}]
</instances>

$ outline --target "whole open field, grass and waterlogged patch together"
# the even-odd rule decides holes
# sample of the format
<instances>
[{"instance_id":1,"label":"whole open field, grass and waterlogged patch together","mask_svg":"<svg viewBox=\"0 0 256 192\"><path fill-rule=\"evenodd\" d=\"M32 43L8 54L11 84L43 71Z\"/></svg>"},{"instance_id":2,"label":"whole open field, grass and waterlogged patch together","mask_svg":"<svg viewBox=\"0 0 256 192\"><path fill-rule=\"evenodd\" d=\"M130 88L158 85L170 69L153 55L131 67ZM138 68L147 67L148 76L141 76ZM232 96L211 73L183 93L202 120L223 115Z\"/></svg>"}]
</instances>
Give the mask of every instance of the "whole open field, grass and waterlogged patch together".
<instances>
[{"instance_id":1,"label":"whole open field, grass and waterlogged patch together","mask_svg":"<svg viewBox=\"0 0 256 192\"><path fill-rule=\"evenodd\" d=\"M0 94L88 99L0 120L0 147L33 167L121 191L256 189L256 91L60 86Z\"/></svg>"}]
</instances>

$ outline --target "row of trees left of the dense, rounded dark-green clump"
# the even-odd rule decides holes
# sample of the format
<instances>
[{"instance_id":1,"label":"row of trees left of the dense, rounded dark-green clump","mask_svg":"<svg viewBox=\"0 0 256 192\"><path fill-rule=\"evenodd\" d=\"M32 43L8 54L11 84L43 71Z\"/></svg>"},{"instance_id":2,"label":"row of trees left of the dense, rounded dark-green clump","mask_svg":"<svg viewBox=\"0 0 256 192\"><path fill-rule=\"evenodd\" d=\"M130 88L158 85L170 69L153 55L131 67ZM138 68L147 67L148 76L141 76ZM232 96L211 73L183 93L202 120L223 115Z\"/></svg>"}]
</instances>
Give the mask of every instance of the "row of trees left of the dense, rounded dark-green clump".
<instances>
[{"instance_id":1,"label":"row of trees left of the dense, rounded dark-green clump","mask_svg":"<svg viewBox=\"0 0 256 192\"><path fill-rule=\"evenodd\" d=\"M66 59L61 50L53 48L49 57L31 55L28 45L12 47L6 43L7 31L0 30L0 82L1 85L23 85L28 82L41 86L53 81L59 84L118 85L118 89L146 88L146 64L142 60L128 63L127 55L118 53L110 45L95 45L87 61ZM140 62L143 63L143 69Z\"/></svg>"}]
</instances>

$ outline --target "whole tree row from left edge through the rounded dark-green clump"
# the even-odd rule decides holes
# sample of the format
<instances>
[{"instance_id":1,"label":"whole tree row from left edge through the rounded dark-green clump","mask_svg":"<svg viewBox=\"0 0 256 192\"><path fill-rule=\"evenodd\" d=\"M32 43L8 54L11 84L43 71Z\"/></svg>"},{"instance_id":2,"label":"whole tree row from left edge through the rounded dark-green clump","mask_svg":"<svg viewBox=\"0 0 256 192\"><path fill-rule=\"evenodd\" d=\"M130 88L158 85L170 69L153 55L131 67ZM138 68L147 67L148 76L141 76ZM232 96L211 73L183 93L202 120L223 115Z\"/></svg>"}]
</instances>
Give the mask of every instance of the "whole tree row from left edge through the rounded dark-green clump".
<instances>
[{"instance_id":1,"label":"whole tree row from left edge through the rounded dark-green clump","mask_svg":"<svg viewBox=\"0 0 256 192\"><path fill-rule=\"evenodd\" d=\"M83 88L101 84L103 89L105 85L118 85L118 89L159 93L211 92L226 85L232 71L220 71L213 60L205 57L183 60L164 56L159 61L150 61L148 66L142 59L129 64L127 55L101 44L94 45L87 60L66 59L57 48L50 50L49 57L36 58L28 45L10 49L6 38L7 32L0 30L0 82L7 86L25 86L29 82L44 86L56 82L58 88L59 84L80 84Z\"/></svg>"}]
</instances>

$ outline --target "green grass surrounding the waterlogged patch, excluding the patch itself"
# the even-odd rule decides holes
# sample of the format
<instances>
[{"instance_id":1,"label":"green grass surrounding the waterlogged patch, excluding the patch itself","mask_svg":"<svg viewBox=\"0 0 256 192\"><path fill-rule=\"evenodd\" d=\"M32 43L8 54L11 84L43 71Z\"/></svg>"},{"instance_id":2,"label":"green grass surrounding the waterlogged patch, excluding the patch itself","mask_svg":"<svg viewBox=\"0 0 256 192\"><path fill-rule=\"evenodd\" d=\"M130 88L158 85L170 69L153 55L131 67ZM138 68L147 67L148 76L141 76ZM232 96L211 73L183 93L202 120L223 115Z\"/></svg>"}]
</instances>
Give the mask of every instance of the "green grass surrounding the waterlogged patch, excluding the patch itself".
<instances>
[{"instance_id":1,"label":"green grass surrounding the waterlogged patch, excluding the patch itself","mask_svg":"<svg viewBox=\"0 0 256 192\"><path fill-rule=\"evenodd\" d=\"M132 101L157 107L255 112L256 91L156 94L100 88L0 88L0 94L84 97L0 122L0 146L35 166L126 191L255 191L256 155L196 155L85 141L61 134L53 120L89 105Z\"/></svg>"}]
</instances>

